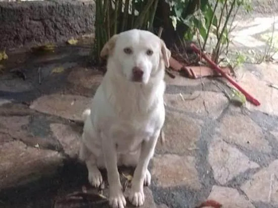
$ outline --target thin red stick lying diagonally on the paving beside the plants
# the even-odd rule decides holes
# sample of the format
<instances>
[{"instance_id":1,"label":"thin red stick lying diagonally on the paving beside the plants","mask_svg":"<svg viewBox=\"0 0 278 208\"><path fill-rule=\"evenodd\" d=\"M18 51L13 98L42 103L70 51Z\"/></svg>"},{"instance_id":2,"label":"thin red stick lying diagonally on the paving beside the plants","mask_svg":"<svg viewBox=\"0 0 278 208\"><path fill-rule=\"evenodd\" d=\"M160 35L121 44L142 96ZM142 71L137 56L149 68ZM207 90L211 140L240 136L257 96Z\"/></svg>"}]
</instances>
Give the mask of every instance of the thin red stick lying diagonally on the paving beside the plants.
<instances>
[{"instance_id":1,"label":"thin red stick lying diagonally on the paving beside the plants","mask_svg":"<svg viewBox=\"0 0 278 208\"><path fill-rule=\"evenodd\" d=\"M225 77L231 84L233 84L236 88L238 88L238 90L240 90L246 97L246 99L250 102L252 102L255 106L259 106L261 105L261 103L255 99L253 96L251 96L247 91L245 91L236 81L234 81L229 75L227 75L226 73L224 73L220 67L218 67L210 58L208 58L202 51L199 50L199 48L197 48L197 46L194 43L191 43L190 45L192 47L192 49L200 56L202 56L202 58L204 58L212 67L213 69L220 73L223 77Z\"/></svg>"}]
</instances>

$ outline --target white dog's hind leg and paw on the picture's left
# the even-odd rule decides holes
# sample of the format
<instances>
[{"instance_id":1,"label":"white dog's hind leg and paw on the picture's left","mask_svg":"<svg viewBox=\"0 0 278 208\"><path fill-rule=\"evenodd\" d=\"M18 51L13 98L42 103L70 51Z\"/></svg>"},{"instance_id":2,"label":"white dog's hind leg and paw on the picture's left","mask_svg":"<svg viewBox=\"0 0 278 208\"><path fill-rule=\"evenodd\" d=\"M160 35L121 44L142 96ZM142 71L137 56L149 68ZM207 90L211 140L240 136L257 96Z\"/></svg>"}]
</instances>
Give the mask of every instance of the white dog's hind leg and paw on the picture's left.
<instances>
[{"instance_id":1,"label":"white dog's hind leg and paw on the picture's left","mask_svg":"<svg viewBox=\"0 0 278 208\"><path fill-rule=\"evenodd\" d=\"M100 170L97 167L97 158L86 145L81 142L79 158L84 161L88 169L88 180L92 186L100 187L103 182L103 177Z\"/></svg>"}]
</instances>

